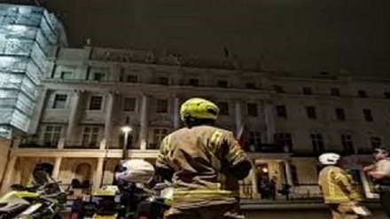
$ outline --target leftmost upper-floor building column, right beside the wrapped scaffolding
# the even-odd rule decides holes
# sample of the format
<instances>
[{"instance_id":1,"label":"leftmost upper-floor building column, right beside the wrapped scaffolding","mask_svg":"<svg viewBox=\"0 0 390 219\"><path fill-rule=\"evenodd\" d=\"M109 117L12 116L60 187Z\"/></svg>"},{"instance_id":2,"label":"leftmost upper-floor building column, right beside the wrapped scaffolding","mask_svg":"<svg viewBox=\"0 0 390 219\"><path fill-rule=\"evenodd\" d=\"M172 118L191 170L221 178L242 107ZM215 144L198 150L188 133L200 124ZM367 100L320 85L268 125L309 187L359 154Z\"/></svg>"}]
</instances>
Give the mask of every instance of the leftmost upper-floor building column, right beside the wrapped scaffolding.
<instances>
[{"instance_id":1,"label":"leftmost upper-floor building column, right beside the wrapped scaffolding","mask_svg":"<svg viewBox=\"0 0 390 219\"><path fill-rule=\"evenodd\" d=\"M30 121L30 126L28 129L29 134L35 134L38 130L39 121L41 121L41 116L43 113L44 103L46 102L46 95L48 90L46 88L38 87L37 88L37 97L34 107L33 116Z\"/></svg>"}]
</instances>

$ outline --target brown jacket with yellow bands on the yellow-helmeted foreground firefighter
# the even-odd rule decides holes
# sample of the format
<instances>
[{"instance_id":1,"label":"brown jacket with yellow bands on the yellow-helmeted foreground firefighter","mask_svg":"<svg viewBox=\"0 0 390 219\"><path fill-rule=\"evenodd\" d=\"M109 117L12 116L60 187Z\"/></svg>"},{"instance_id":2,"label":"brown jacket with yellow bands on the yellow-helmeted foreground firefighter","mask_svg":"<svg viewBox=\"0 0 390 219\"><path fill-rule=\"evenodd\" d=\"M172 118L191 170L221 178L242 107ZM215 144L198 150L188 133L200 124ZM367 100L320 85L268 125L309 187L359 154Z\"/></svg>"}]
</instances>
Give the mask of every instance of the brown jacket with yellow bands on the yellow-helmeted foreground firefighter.
<instances>
[{"instance_id":1,"label":"brown jacket with yellow bands on the yellow-helmeted foreground firefighter","mask_svg":"<svg viewBox=\"0 0 390 219\"><path fill-rule=\"evenodd\" d=\"M165 137L156 161L157 174L175 186L173 206L182 208L237 202L238 180L251 168L230 131L206 125Z\"/></svg>"}]
</instances>

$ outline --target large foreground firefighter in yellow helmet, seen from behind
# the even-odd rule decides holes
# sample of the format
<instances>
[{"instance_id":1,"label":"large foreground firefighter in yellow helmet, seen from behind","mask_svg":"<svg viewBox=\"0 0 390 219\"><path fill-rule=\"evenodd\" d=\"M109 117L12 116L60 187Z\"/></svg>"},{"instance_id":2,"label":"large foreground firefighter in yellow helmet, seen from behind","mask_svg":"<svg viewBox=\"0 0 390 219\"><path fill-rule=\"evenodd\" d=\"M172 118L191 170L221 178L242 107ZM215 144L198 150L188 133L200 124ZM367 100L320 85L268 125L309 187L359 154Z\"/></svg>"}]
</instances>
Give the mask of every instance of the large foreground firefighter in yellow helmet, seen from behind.
<instances>
[{"instance_id":1,"label":"large foreground firefighter in yellow helmet, seen from behind","mask_svg":"<svg viewBox=\"0 0 390 219\"><path fill-rule=\"evenodd\" d=\"M238 206L238 180L252 163L233 134L214 127L219 108L190 98L180 108L185 128L165 137L156 174L174 184L174 201L165 218L245 218Z\"/></svg>"}]
</instances>

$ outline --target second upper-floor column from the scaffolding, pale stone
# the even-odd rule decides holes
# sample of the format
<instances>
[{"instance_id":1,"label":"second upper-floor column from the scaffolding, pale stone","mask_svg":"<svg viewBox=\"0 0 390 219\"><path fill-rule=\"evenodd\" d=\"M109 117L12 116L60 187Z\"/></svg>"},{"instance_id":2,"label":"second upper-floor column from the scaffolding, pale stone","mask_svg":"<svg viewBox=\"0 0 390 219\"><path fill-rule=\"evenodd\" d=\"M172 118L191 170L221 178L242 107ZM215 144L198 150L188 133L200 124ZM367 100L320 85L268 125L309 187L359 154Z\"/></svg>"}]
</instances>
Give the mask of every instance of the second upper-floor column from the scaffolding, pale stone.
<instances>
[{"instance_id":1,"label":"second upper-floor column from the scaffolding, pale stone","mask_svg":"<svg viewBox=\"0 0 390 219\"><path fill-rule=\"evenodd\" d=\"M74 90L74 93L72 95L72 105L69 114L69 121L66 129L66 141L75 141L76 139L76 133L74 133L74 129L78 125L77 119L79 113L78 109L80 106L80 97L81 97L81 91Z\"/></svg>"}]
</instances>

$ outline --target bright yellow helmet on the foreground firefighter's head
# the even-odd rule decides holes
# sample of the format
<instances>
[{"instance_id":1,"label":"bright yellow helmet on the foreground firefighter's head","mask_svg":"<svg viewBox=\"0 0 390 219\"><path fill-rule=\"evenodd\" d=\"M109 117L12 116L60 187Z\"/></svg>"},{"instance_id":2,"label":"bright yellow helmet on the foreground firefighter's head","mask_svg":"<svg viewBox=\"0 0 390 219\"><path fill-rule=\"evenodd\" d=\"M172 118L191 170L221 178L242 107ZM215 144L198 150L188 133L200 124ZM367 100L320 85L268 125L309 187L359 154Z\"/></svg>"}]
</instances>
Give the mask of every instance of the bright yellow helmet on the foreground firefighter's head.
<instances>
[{"instance_id":1,"label":"bright yellow helmet on the foreground firefighter's head","mask_svg":"<svg viewBox=\"0 0 390 219\"><path fill-rule=\"evenodd\" d=\"M195 119L216 120L218 113L218 106L204 98L190 98L180 107L182 121L185 121L185 118L189 116Z\"/></svg>"}]
</instances>

